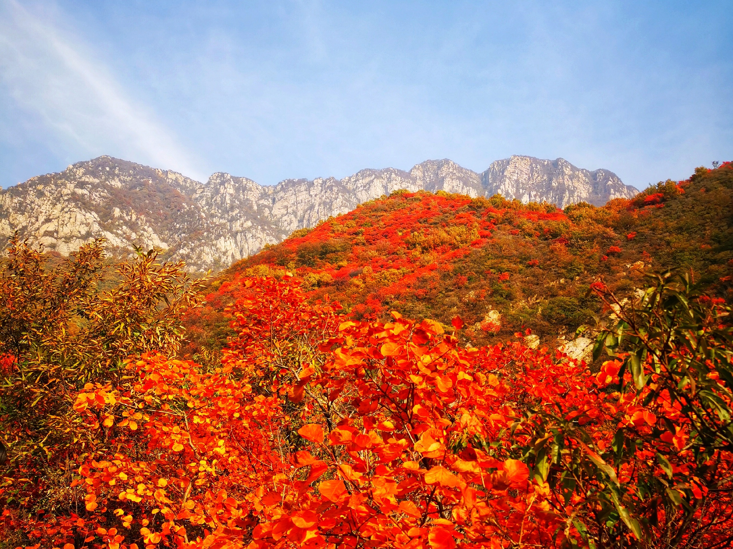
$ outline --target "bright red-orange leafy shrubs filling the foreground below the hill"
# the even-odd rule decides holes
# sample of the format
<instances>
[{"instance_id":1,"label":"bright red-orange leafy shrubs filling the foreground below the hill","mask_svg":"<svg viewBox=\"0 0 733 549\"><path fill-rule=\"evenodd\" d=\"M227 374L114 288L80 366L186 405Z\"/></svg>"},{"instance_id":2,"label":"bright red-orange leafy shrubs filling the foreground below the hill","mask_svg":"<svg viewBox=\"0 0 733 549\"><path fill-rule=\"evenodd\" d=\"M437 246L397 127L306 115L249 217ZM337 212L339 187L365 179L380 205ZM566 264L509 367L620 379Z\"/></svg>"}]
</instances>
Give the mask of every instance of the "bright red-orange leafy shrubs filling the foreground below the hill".
<instances>
[{"instance_id":1,"label":"bright red-orange leafy shrubs filling the foreground below the hill","mask_svg":"<svg viewBox=\"0 0 733 549\"><path fill-rule=\"evenodd\" d=\"M661 284L637 315L661 318ZM651 339L616 354L608 332L611 359L593 375L519 341L461 346L435 321L350 321L288 276L242 292L221 367L144 354L127 362L128 389L84 386L74 408L89 442L67 455L83 507L6 510L6 527L108 549L731 541L733 436L704 396L731 405L721 300L688 291L704 354ZM627 337L646 337L641 317L619 314ZM704 394L674 377L699 356Z\"/></svg>"}]
</instances>

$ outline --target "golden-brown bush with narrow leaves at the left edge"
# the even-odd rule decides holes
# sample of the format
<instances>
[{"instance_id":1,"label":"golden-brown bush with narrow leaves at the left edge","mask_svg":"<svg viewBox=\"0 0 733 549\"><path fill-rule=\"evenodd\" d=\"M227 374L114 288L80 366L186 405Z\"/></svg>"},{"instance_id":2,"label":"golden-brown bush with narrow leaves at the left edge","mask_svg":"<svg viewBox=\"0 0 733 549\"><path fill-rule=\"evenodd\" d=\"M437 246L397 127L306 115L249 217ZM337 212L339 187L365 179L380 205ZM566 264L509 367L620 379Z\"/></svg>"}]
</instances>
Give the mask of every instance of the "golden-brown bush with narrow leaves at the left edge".
<instances>
[{"instance_id":1,"label":"golden-brown bush with narrow leaves at the left edge","mask_svg":"<svg viewBox=\"0 0 733 549\"><path fill-rule=\"evenodd\" d=\"M73 411L78 391L128 383L122 362L130 354L174 354L180 315L200 302L201 283L182 264L158 263L151 250L109 272L103 245L50 266L14 236L0 265L0 497L17 516L68 512L69 460L100 443Z\"/></svg>"}]
</instances>

